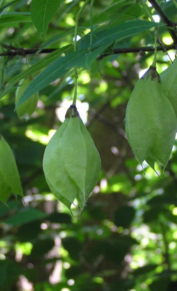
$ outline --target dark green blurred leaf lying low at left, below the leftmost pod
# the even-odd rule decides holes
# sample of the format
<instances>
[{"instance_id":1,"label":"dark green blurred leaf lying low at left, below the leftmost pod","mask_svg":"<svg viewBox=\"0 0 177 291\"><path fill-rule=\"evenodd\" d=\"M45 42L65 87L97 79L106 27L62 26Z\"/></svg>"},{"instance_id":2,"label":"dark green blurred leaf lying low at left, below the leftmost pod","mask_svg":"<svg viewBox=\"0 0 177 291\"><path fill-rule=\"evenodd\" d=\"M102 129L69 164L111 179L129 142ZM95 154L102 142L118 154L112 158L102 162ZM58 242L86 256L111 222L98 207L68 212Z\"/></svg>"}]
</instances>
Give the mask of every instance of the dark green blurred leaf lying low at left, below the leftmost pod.
<instances>
[{"instance_id":1,"label":"dark green blurred leaf lying low at left, below the leftmost pod","mask_svg":"<svg viewBox=\"0 0 177 291\"><path fill-rule=\"evenodd\" d=\"M11 215L7 219L3 220L3 222L12 226L17 226L35 221L46 216L47 215L42 211L28 207L20 209L14 215Z\"/></svg>"}]
</instances>

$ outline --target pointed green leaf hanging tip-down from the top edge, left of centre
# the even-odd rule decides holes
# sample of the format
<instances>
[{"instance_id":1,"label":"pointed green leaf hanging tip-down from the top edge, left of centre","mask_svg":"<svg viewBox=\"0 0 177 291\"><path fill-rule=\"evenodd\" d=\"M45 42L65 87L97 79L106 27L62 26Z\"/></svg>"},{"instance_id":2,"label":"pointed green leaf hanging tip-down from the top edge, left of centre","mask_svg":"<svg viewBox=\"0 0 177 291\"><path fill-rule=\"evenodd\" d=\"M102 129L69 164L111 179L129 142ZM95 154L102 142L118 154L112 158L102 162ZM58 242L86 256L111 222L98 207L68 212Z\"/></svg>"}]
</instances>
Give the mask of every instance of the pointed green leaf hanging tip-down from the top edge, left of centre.
<instances>
[{"instance_id":1,"label":"pointed green leaf hanging tip-down from the top edge, left of centre","mask_svg":"<svg viewBox=\"0 0 177 291\"><path fill-rule=\"evenodd\" d=\"M40 34L46 36L48 25L57 12L61 0L32 0L31 18Z\"/></svg>"}]
</instances>

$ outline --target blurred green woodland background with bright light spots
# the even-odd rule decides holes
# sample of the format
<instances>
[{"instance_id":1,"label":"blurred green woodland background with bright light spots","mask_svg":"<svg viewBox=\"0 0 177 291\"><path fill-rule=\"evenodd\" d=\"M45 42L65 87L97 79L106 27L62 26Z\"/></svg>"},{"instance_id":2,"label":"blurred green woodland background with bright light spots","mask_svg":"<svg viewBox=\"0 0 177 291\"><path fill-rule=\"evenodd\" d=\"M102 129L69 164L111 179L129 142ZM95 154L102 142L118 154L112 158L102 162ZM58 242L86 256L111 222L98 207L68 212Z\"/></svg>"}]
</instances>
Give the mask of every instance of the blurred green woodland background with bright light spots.
<instances>
[{"instance_id":1,"label":"blurred green woodland background with bright light spots","mask_svg":"<svg viewBox=\"0 0 177 291\"><path fill-rule=\"evenodd\" d=\"M1 5L8 2L1 1ZM167 16L177 21L173 3L158 2ZM107 7L111 3L95 1L95 27L99 17L109 20ZM74 19L82 4L78 0L62 1L49 25L45 40L50 40L48 48L73 42ZM28 15L29 5L30 1L17 1L7 12ZM151 6L149 10L159 21ZM131 17L148 20L141 8ZM32 22L19 21L3 24L0 19L1 42L40 48L44 41ZM121 21L125 19L120 18ZM86 7L79 22L78 39L89 32L88 28ZM160 36L165 44L173 43L166 29L160 29ZM143 45L154 45L153 30L125 39L119 47ZM174 60L175 51L168 53ZM1 57L2 88L44 56ZM39 92L38 107L29 120L20 120L14 112L15 92L0 100L0 131L15 155L24 192L23 200L11 196L8 207L0 203L0 290L177 290L176 143L164 178L156 165L161 174L158 178L145 163L144 174L125 136L126 104L152 60L153 53L114 54L94 61L90 70L78 70L76 106L102 161L98 184L81 219L72 217L57 201L42 169L45 146L72 103L73 71ZM158 52L157 71L160 73L169 65L167 54Z\"/></svg>"}]
</instances>

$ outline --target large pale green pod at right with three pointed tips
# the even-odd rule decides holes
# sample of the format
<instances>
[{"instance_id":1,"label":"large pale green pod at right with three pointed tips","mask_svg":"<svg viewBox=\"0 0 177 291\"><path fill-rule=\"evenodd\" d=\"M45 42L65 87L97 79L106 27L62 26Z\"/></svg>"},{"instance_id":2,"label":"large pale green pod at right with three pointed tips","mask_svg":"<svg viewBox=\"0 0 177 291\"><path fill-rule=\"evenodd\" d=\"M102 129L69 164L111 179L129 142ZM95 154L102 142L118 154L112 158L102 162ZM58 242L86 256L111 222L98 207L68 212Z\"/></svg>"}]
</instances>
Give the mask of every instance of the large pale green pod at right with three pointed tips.
<instances>
[{"instance_id":1,"label":"large pale green pod at right with three pointed tips","mask_svg":"<svg viewBox=\"0 0 177 291\"><path fill-rule=\"evenodd\" d=\"M177 120L154 67L134 87L126 109L125 130L141 165L146 160L152 169L155 162L165 169L175 141Z\"/></svg>"}]
</instances>

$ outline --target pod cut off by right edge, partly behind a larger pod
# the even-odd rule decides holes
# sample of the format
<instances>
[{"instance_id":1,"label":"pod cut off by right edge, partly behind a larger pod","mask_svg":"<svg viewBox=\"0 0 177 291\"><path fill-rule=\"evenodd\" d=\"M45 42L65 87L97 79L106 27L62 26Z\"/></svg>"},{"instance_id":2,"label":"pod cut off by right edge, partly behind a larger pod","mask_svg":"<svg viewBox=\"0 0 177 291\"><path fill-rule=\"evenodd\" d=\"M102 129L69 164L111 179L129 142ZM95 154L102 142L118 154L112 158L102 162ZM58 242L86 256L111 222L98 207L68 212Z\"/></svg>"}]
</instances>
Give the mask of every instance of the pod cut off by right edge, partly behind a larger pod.
<instances>
[{"instance_id":1,"label":"pod cut off by right edge, partly behind a larger pod","mask_svg":"<svg viewBox=\"0 0 177 291\"><path fill-rule=\"evenodd\" d=\"M177 116L177 58L165 71L161 72L161 87L169 99Z\"/></svg>"}]
</instances>

